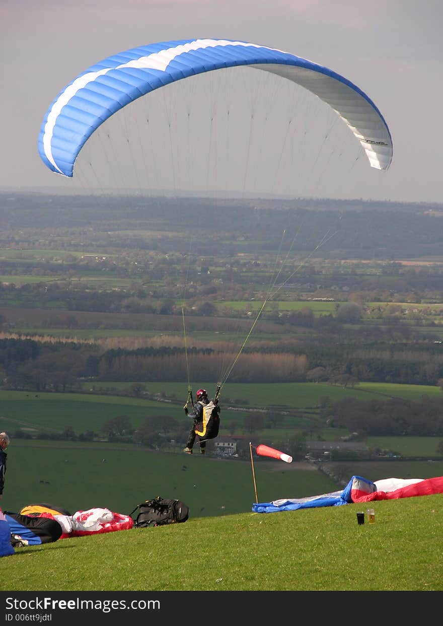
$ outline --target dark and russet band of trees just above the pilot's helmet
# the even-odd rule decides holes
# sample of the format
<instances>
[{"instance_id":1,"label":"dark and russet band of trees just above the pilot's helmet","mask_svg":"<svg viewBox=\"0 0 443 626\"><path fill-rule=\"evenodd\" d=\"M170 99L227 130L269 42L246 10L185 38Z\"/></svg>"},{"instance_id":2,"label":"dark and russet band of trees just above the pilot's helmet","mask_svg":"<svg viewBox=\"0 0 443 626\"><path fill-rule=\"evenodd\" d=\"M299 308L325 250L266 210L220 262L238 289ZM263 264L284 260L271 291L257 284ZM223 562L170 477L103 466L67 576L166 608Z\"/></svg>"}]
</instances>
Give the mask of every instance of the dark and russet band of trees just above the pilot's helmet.
<instances>
[{"instance_id":1,"label":"dark and russet band of trees just above the pilot's helmet","mask_svg":"<svg viewBox=\"0 0 443 626\"><path fill-rule=\"evenodd\" d=\"M237 359L238 357L238 359ZM176 381L186 378L186 359L206 379L230 382L304 382L333 384L395 382L437 385L443 379L441 344L339 345L282 342L245 347L239 352L216 348L143 347L104 350L89 342L0 339L3 387L66 391L84 379L96 381Z\"/></svg>"}]
</instances>

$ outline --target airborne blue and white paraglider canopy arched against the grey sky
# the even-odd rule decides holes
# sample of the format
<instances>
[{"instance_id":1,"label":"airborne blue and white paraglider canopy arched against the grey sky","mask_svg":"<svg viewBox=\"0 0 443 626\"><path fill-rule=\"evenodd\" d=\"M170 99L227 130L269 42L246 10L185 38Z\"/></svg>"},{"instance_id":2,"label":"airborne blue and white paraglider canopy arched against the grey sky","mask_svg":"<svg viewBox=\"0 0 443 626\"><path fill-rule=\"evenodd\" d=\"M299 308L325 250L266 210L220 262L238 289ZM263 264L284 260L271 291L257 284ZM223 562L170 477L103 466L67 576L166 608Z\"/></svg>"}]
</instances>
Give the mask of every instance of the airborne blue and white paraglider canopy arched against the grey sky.
<instances>
[{"instance_id":1,"label":"airborne blue and white paraglider canopy arched against the grey sky","mask_svg":"<svg viewBox=\"0 0 443 626\"><path fill-rule=\"evenodd\" d=\"M357 86L332 69L294 54L226 39L154 43L109 56L86 69L49 106L41 125L39 154L50 170L72 177L85 141L123 106L182 78L235 66L278 74L311 91L349 126L371 167L389 168L389 128L372 100Z\"/></svg>"}]
</instances>

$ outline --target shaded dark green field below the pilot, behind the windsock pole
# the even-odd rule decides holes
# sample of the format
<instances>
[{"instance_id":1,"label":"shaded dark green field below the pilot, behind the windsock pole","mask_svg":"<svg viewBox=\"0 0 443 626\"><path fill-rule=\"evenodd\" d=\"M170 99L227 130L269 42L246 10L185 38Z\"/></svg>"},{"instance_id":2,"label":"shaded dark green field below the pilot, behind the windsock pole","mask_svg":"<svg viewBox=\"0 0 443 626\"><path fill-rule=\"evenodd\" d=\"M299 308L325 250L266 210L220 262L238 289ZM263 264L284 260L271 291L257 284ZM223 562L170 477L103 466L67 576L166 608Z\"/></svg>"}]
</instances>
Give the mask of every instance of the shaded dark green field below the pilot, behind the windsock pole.
<instances>
[{"instance_id":1,"label":"shaded dark green field below the pilot, behind the windsock pole","mask_svg":"<svg viewBox=\"0 0 443 626\"><path fill-rule=\"evenodd\" d=\"M254 469L260 501L337 489L320 471L293 469L275 459L257 457ZM117 444L16 440L9 446L3 510L19 511L43 501L71 513L106 507L127 515L137 503L157 495L185 501L193 517L250 511L255 501L252 465Z\"/></svg>"}]
</instances>

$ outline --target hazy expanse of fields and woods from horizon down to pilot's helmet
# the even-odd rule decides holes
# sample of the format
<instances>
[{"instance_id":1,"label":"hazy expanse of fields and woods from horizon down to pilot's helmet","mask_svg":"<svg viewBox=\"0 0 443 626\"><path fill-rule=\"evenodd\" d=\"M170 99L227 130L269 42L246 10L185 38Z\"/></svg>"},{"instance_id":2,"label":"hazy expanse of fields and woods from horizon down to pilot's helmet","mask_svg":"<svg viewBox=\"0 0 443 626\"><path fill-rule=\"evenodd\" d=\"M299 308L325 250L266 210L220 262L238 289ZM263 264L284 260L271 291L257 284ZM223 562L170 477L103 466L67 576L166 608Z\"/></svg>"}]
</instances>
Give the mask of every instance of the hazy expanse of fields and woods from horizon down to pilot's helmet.
<instances>
[{"instance_id":1,"label":"hazy expanse of fields and woods from horizon down to pilot's helmet","mask_svg":"<svg viewBox=\"0 0 443 626\"><path fill-rule=\"evenodd\" d=\"M443 207L1 193L0 217L11 389L216 380L239 346L232 382L443 379Z\"/></svg>"}]
</instances>

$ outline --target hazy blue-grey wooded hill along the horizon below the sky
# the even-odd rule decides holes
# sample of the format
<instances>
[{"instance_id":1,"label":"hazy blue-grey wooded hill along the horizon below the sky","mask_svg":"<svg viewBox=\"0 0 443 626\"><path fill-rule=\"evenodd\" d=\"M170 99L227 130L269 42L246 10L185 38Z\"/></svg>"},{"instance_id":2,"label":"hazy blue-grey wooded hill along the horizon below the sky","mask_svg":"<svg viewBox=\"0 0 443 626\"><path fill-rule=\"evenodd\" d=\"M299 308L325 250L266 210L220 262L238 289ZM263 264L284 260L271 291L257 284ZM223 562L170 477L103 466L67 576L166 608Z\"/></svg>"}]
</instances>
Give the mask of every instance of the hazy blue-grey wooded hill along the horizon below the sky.
<instances>
[{"instance_id":1,"label":"hazy blue-grey wooded hill along the horizon below the sky","mask_svg":"<svg viewBox=\"0 0 443 626\"><path fill-rule=\"evenodd\" d=\"M214 202L213 198L165 195L0 192L0 215L0 247L8 247L11 237L16 238L16 231L23 228L35 233L54 227L87 227L94 229L92 240L100 241L97 234L103 233L108 245L116 248L128 246L128 240L121 237L125 231L157 231L161 237L167 233L165 245L171 245L171 237L175 237L173 249L183 247L184 253L189 247L185 233L193 233L195 224L203 223L208 233L219 237L219 256L233 254L238 237L245 242L245 252L248 245L256 253L278 249L282 232L287 233L282 250L288 249L297 233L293 250L300 254L316 250L316 256L332 259L440 257L443 249L443 205L429 203L306 198L225 198ZM327 241L317 250L323 238ZM75 242L71 240L71 244ZM213 242L208 245L201 254L209 254Z\"/></svg>"}]
</instances>

